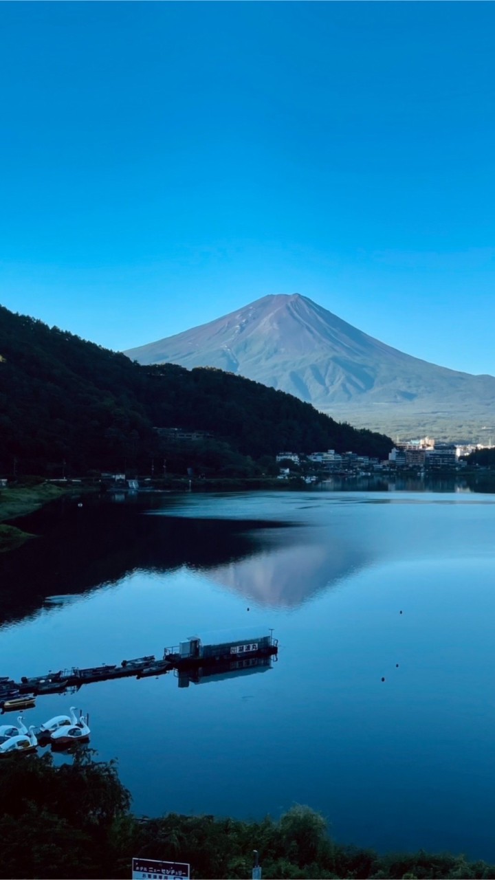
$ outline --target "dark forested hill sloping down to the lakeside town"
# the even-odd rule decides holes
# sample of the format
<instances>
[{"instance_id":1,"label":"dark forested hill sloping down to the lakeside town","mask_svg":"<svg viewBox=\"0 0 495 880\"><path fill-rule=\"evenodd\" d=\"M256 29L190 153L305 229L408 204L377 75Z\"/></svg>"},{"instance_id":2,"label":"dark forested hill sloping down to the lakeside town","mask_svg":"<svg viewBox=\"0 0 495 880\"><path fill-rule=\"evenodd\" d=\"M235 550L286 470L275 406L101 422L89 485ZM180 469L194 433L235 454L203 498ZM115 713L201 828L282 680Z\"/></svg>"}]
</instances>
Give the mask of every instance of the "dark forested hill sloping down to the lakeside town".
<instances>
[{"instance_id":1,"label":"dark forested hill sloping down to the lakeside town","mask_svg":"<svg viewBox=\"0 0 495 880\"><path fill-rule=\"evenodd\" d=\"M385 456L392 441L334 422L290 394L221 370L140 366L0 306L0 475L150 470L167 456L156 427L207 431L177 470L242 470L281 450L352 450ZM225 447L228 444L230 450ZM201 461L200 448L204 447ZM174 451L172 451L174 452ZM172 455L174 460L174 454ZM209 466L210 465L210 466Z\"/></svg>"}]
</instances>

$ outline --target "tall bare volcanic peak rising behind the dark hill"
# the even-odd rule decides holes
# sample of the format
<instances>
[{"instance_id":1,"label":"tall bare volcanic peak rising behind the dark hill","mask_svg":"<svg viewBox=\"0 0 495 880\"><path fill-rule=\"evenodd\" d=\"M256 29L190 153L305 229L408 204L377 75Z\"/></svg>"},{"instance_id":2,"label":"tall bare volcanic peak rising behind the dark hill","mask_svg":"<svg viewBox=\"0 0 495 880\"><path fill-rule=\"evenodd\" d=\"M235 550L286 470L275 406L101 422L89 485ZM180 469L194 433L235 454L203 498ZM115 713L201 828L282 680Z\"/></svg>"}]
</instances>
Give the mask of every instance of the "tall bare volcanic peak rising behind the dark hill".
<instances>
[{"instance_id":1,"label":"tall bare volcanic peak rising behind the dark hill","mask_svg":"<svg viewBox=\"0 0 495 880\"><path fill-rule=\"evenodd\" d=\"M143 364L229 370L388 433L469 439L493 424L495 378L406 355L298 293L262 297L124 354Z\"/></svg>"}]
</instances>

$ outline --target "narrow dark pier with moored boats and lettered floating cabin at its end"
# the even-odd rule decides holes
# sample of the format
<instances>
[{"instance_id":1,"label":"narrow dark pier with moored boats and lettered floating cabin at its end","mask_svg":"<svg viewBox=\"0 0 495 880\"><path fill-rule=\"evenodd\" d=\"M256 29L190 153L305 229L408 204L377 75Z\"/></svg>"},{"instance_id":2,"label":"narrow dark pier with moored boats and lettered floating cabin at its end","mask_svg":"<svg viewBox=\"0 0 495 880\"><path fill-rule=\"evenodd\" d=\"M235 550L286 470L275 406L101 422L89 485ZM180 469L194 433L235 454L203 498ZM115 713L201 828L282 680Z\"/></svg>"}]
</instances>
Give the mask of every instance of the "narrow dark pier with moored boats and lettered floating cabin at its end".
<instances>
[{"instance_id":1,"label":"narrow dark pier with moored boats and lettered floating cabin at its end","mask_svg":"<svg viewBox=\"0 0 495 880\"><path fill-rule=\"evenodd\" d=\"M22 676L20 681L0 678L0 707L4 708L4 703L12 698L27 694L36 697L69 690L73 692L82 685L97 681L132 676L150 678L167 672L176 672L179 686L187 687L190 681L198 684L207 679L225 678L229 674L269 668L271 657L277 656L277 652L278 642L271 633L213 645L203 645L199 636L192 635L178 647L166 648L161 659L149 654L122 660L119 665L103 664L85 669L72 666L56 672L48 671L45 675Z\"/></svg>"}]
</instances>

